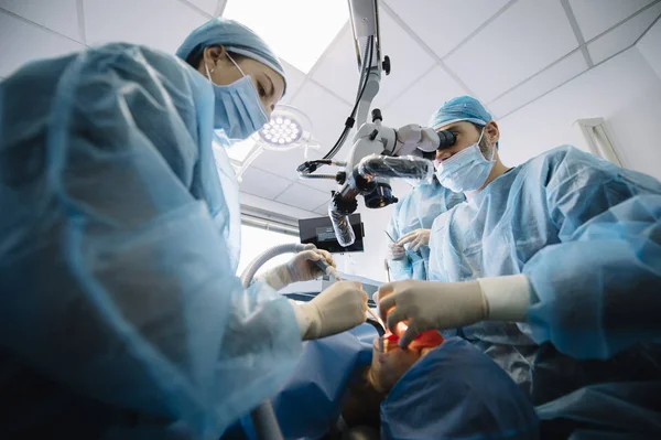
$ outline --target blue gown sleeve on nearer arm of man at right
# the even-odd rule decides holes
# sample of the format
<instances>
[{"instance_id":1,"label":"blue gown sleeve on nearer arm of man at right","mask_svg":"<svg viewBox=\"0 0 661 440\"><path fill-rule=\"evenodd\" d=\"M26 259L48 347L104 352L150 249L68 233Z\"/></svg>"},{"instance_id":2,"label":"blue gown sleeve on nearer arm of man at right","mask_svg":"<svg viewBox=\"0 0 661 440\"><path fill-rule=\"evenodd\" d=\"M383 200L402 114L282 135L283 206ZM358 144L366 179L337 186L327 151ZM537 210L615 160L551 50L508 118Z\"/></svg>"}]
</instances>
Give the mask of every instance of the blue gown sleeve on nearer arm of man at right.
<instances>
[{"instance_id":1,"label":"blue gown sleeve on nearer arm of man at right","mask_svg":"<svg viewBox=\"0 0 661 440\"><path fill-rule=\"evenodd\" d=\"M661 183L574 148L554 158L541 179L562 243L523 268L533 339L577 358L659 341Z\"/></svg>"}]
</instances>

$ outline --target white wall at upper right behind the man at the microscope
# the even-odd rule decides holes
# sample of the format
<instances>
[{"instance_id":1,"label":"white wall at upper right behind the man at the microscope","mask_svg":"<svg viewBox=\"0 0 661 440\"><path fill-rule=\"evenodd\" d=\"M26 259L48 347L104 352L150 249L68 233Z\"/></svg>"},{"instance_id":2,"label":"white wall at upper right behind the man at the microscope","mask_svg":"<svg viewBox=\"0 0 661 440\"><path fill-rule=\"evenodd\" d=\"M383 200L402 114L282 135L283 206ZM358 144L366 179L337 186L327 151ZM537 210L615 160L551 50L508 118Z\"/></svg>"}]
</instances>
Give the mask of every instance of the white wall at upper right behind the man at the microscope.
<instances>
[{"instance_id":1,"label":"white wall at upper right behind the man at the microscope","mask_svg":"<svg viewBox=\"0 0 661 440\"><path fill-rule=\"evenodd\" d=\"M603 117L627 168L661 179L661 77L632 47L499 120L506 164L563 143L587 150L576 119Z\"/></svg>"}]
</instances>

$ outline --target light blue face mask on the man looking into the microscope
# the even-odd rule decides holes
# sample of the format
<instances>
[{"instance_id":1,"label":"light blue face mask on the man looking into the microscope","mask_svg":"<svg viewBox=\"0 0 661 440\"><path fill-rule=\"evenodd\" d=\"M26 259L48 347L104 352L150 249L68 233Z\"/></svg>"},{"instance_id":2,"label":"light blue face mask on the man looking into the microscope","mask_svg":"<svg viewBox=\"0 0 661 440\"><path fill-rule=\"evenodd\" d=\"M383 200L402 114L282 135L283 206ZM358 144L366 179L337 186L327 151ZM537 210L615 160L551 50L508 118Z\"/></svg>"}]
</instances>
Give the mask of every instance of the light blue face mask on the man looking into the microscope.
<instances>
[{"instance_id":1,"label":"light blue face mask on the man looking into the microscope","mask_svg":"<svg viewBox=\"0 0 661 440\"><path fill-rule=\"evenodd\" d=\"M479 142L484 133L483 129L476 143L438 163L436 178L443 186L455 193L463 193L476 191L485 184L496 160L492 149L490 160L487 160L480 151Z\"/></svg>"}]
</instances>

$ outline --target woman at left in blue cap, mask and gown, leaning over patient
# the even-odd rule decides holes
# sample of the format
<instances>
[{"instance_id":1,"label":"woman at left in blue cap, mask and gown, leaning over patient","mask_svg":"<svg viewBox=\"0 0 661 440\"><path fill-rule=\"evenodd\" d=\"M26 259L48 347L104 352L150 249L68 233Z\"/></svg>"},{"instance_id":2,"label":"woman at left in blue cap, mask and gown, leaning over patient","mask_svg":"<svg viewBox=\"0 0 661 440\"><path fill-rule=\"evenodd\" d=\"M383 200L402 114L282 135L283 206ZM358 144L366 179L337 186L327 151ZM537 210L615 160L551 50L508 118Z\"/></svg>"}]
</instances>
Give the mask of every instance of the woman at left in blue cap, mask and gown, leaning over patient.
<instances>
[{"instance_id":1,"label":"woman at left in blue cap, mask and gown, leaning over patient","mask_svg":"<svg viewBox=\"0 0 661 440\"><path fill-rule=\"evenodd\" d=\"M249 29L178 57L108 44L0 83L0 438L217 439L274 395L301 341L365 321L359 283L297 305L311 248L243 289L226 148L285 89Z\"/></svg>"}]
</instances>

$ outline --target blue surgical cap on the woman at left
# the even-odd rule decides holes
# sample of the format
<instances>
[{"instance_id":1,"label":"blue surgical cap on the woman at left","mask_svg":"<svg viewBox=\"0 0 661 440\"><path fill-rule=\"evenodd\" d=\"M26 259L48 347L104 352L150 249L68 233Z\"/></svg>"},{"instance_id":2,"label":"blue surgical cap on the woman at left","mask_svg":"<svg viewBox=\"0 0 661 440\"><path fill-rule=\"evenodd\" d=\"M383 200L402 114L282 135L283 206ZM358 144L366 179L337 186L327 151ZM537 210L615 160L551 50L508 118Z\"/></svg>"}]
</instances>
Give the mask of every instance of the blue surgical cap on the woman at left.
<instances>
[{"instance_id":1,"label":"blue surgical cap on the woman at left","mask_svg":"<svg viewBox=\"0 0 661 440\"><path fill-rule=\"evenodd\" d=\"M225 46L228 52L247 56L271 67L282 75L286 89L284 69L273 51L251 29L234 20L217 18L207 21L188 35L176 50L176 56L187 61L192 56L201 55L205 47L215 44Z\"/></svg>"}]
</instances>

